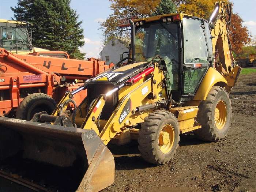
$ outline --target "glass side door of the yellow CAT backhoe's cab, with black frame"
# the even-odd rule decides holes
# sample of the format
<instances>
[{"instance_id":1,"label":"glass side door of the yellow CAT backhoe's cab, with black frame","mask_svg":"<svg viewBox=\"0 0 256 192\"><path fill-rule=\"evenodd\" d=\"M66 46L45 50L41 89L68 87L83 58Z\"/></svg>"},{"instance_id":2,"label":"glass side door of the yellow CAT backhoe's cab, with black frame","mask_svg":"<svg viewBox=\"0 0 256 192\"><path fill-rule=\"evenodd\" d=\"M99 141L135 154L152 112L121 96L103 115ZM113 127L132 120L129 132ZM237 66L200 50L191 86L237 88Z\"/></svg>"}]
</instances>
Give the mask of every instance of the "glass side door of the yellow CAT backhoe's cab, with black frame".
<instances>
[{"instance_id":1,"label":"glass side door of the yellow CAT backhoe's cab, with black frame","mask_svg":"<svg viewBox=\"0 0 256 192\"><path fill-rule=\"evenodd\" d=\"M181 101L192 100L212 62L212 44L208 23L184 18ZM209 45L208 45L209 44Z\"/></svg>"}]
</instances>

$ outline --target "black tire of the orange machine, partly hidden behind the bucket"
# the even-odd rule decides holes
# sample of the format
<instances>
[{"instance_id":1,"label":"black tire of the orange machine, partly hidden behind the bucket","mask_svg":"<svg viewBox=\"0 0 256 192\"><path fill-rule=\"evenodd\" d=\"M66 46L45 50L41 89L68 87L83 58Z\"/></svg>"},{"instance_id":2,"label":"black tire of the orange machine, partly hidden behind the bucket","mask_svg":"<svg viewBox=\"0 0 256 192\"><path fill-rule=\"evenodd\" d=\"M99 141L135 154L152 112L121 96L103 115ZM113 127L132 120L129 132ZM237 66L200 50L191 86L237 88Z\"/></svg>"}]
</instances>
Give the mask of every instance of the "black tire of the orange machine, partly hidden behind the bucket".
<instances>
[{"instance_id":1,"label":"black tire of the orange machine, partly hidden behind the bucket","mask_svg":"<svg viewBox=\"0 0 256 192\"><path fill-rule=\"evenodd\" d=\"M16 111L16 118L23 120L31 120L35 113L46 111L52 114L56 107L53 98L44 93L33 93L23 99Z\"/></svg>"}]
</instances>

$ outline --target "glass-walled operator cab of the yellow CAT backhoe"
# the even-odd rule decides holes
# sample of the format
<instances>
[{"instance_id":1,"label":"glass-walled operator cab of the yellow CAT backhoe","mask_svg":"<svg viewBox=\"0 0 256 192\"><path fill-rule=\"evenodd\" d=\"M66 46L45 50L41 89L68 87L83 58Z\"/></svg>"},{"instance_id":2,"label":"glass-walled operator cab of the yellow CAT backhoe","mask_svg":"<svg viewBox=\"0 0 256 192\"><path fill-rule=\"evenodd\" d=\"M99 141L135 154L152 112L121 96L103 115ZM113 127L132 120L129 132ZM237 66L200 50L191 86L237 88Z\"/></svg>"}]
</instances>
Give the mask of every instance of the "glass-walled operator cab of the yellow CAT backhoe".
<instances>
[{"instance_id":1,"label":"glass-walled operator cab of the yellow CAT backhoe","mask_svg":"<svg viewBox=\"0 0 256 192\"><path fill-rule=\"evenodd\" d=\"M138 19L134 24L136 63L159 55L167 69L169 99L177 103L192 100L212 65L209 23L190 15L166 14Z\"/></svg>"}]
</instances>

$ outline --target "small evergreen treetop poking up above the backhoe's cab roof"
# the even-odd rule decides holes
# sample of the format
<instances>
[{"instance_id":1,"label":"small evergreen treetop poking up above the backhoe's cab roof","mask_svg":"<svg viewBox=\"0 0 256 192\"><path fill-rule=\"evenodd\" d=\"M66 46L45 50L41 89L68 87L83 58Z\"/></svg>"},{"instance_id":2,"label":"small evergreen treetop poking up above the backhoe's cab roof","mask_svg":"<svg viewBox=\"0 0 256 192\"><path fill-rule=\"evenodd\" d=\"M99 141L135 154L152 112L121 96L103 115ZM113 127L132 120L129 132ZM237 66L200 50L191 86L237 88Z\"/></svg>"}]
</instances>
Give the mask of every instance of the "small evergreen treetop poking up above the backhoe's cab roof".
<instances>
[{"instance_id":1,"label":"small evergreen treetop poking up above the backhoe's cab roof","mask_svg":"<svg viewBox=\"0 0 256 192\"><path fill-rule=\"evenodd\" d=\"M176 13L176 5L172 0L161 0L152 16Z\"/></svg>"}]
</instances>

